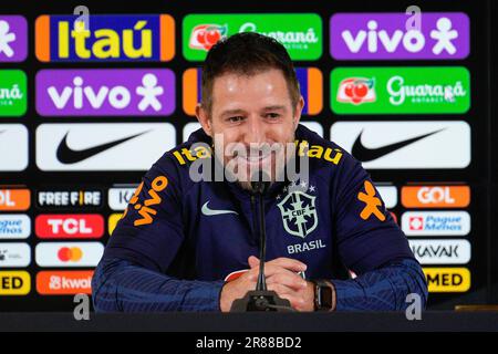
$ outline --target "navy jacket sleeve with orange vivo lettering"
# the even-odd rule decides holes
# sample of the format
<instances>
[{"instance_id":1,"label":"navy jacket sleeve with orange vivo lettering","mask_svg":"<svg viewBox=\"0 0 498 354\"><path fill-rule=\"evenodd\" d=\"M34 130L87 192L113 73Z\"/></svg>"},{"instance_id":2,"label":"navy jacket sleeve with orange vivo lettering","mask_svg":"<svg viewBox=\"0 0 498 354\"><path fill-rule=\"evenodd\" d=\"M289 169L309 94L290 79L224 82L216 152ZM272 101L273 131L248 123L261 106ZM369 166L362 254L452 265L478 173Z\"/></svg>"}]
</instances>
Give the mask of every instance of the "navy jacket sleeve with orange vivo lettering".
<instances>
[{"instance_id":1,"label":"navy jacket sleeve with orange vivo lettering","mask_svg":"<svg viewBox=\"0 0 498 354\"><path fill-rule=\"evenodd\" d=\"M96 311L219 310L221 281L167 274L185 239L178 175L165 155L143 178L95 270Z\"/></svg>"}]
</instances>

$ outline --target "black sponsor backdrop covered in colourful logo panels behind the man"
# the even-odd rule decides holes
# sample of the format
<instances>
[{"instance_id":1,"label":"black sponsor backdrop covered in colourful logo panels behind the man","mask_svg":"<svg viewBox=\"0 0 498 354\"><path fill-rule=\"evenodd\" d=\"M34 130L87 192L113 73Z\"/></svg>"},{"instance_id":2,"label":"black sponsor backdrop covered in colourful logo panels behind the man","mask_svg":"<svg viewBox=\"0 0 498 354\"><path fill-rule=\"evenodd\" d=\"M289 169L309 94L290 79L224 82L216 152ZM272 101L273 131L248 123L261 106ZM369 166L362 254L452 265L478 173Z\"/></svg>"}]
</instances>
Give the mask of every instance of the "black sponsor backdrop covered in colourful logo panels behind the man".
<instances>
[{"instance_id":1,"label":"black sponsor backdrop covered in colourful logo panels behind the man","mask_svg":"<svg viewBox=\"0 0 498 354\"><path fill-rule=\"evenodd\" d=\"M0 311L70 310L91 293L142 175L198 128L199 64L242 31L286 45L303 123L369 169L429 308L490 301L490 3L411 4L1 4Z\"/></svg>"}]
</instances>

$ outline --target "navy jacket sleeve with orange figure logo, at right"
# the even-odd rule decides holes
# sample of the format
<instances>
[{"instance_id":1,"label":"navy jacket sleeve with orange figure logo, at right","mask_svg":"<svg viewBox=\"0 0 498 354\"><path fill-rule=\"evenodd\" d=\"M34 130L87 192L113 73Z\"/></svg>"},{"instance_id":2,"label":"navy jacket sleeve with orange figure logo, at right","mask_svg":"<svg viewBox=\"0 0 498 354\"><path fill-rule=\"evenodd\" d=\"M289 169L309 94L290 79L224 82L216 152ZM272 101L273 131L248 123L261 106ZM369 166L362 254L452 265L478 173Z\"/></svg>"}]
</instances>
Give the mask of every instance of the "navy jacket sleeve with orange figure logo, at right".
<instances>
[{"instance_id":1,"label":"navy jacket sleeve with orange figure logo, at right","mask_svg":"<svg viewBox=\"0 0 498 354\"><path fill-rule=\"evenodd\" d=\"M336 310L398 311L416 293L425 308L427 284L404 232L385 208L369 174L344 155L333 186L335 235L344 266L357 277L332 280Z\"/></svg>"}]
</instances>

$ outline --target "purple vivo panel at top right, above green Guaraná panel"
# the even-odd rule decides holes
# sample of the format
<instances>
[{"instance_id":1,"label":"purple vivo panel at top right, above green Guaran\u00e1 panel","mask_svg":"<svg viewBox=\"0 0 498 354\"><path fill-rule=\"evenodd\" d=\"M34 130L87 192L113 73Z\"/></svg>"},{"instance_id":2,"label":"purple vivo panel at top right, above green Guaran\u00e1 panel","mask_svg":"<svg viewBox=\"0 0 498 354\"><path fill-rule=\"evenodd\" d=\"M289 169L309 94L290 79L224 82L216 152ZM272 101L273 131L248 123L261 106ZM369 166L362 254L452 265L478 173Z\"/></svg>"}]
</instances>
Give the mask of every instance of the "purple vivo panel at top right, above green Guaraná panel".
<instances>
[{"instance_id":1,"label":"purple vivo panel at top right, above green Guaran\u00e1 panel","mask_svg":"<svg viewBox=\"0 0 498 354\"><path fill-rule=\"evenodd\" d=\"M419 19L419 21L417 21ZM470 23L463 12L336 13L330 50L338 60L464 59Z\"/></svg>"}]
</instances>

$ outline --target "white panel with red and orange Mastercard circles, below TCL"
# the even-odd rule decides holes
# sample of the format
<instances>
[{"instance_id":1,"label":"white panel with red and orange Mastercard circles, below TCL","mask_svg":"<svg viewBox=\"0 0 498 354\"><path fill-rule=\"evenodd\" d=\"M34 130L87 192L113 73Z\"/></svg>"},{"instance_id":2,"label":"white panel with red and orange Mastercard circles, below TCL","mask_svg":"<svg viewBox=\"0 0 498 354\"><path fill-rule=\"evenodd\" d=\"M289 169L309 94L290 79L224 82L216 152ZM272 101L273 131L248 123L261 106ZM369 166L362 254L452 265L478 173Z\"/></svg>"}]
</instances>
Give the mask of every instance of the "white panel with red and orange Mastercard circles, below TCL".
<instances>
[{"instance_id":1,"label":"white panel with red and orange Mastercard circles, below TCL","mask_svg":"<svg viewBox=\"0 0 498 354\"><path fill-rule=\"evenodd\" d=\"M41 242L34 249L40 267L96 267L103 253L100 242Z\"/></svg>"}]
</instances>

